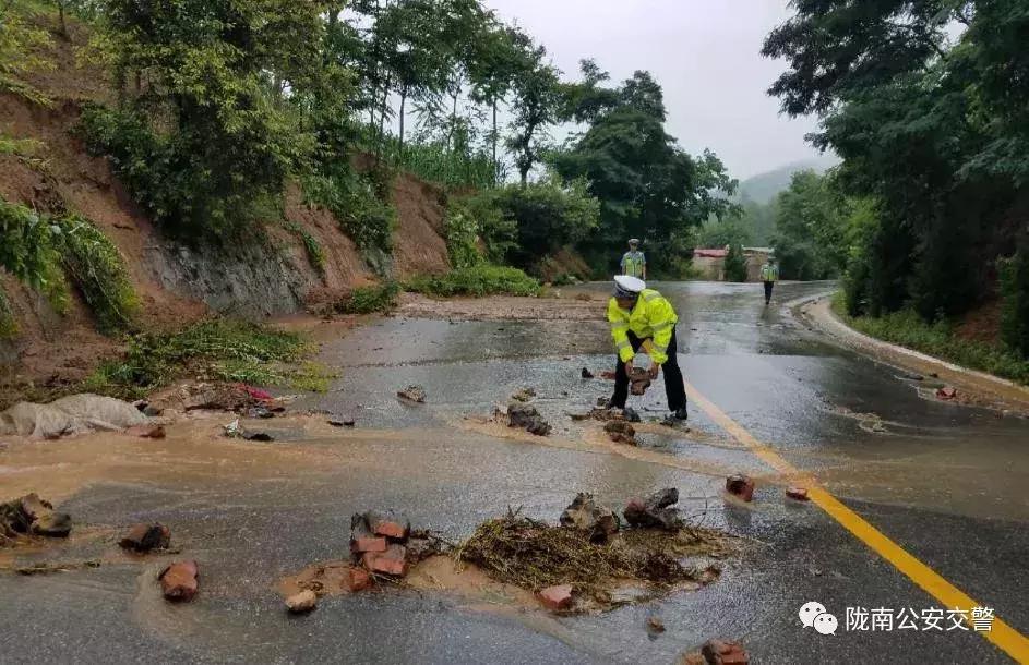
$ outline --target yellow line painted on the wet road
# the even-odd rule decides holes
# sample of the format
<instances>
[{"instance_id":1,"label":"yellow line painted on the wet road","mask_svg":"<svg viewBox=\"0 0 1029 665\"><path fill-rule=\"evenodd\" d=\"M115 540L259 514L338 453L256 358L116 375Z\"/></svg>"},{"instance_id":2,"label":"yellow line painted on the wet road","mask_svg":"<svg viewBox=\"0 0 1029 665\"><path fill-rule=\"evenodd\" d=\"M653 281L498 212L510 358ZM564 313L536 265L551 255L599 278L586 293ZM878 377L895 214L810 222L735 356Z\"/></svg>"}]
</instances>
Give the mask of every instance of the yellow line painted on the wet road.
<instances>
[{"instance_id":1,"label":"yellow line painted on the wet road","mask_svg":"<svg viewBox=\"0 0 1029 665\"><path fill-rule=\"evenodd\" d=\"M695 387L686 383L686 395L693 403L710 416L722 430L728 432L738 442L750 448L754 455L776 471L802 477L810 483L809 496L829 517L839 522L876 554L886 559L894 568L908 576L912 582L921 587L931 596L943 603L947 609L964 609L971 613L972 607L980 606L960 589L945 580L935 570L908 554L904 547L893 542L875 527L866 522L857 512L845 506L839 499L828 493L810 473L802 472L786 461L778 452L757 440L742 425L729 418L713 401L704 397ZM993 629L979 632L986 640L993 642L1007 655L1019 663L1029 663L1029 639L1001 620L994 618Z\"/></svg>"}]
</instances>

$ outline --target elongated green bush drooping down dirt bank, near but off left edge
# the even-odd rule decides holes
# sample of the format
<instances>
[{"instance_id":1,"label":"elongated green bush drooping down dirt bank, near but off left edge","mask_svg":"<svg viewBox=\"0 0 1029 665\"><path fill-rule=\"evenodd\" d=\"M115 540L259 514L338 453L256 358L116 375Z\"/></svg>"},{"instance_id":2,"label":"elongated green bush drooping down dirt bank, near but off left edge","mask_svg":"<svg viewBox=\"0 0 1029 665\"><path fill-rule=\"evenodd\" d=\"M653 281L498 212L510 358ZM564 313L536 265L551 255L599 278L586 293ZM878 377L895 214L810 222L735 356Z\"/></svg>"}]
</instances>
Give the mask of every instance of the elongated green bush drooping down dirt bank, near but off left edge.
<instances>
[{"instance_id":1,"label":"elongated green bush drooping down dirt bank, near but off left edge","mask_svg":"<svg viewBox=\"0 0 1029 665\"><path fill-rule=\"evenodd\" d=\"M59 221L55 233L61 264L96 316L101 332L131 327L139 299L118 247L107 235L81 217Z\"/></svg>"}]
</instances>

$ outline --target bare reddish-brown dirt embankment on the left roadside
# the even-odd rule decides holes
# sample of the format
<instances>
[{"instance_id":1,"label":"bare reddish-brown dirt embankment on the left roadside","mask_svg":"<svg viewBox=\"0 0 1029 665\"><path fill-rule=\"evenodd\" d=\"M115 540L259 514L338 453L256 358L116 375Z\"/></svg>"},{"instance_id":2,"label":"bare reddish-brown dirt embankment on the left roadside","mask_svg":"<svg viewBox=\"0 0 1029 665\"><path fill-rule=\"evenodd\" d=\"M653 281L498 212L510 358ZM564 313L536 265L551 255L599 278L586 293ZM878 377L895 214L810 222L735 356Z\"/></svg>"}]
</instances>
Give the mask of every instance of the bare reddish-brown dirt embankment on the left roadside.
<instances>
[{"instance_id":1,"label":"bare reddish-brown dirt embankment on the left roadside","mask_svg":"<svg viewBox=\"0 0 1029 665\"><path fill-rule=\"evenodd\" d=\"M274 225L267 228L266 240L249 246L189 246L163 234L132 202L107 160L91 157L74 134L83 105L110 102L113 93L104 72L79 57L88 39L85 29L72 23L70 33L67 40L55 35L46 53L53 69L32 80L52 99L51 106L0 94L0 134L40 144L38 158L0 155L0 195L41 213L77 213L96 223L127 261L142 301L144 327L181 325L211 311L249 318L296 313L374 280L335 217L304 205L296 186L286 193L285 217L322 246L323 274L311 265L301 239ZM393 193L398 213L397 276L445 271L440 192L402 174ZM20 330L13 342L0 342L0 364L17 363L22 377L74 379L116 349L95 331L89 312L75 294L70 312L59 315L45 299L2 273L0 286Z\"/></svg>"}]
</instances>

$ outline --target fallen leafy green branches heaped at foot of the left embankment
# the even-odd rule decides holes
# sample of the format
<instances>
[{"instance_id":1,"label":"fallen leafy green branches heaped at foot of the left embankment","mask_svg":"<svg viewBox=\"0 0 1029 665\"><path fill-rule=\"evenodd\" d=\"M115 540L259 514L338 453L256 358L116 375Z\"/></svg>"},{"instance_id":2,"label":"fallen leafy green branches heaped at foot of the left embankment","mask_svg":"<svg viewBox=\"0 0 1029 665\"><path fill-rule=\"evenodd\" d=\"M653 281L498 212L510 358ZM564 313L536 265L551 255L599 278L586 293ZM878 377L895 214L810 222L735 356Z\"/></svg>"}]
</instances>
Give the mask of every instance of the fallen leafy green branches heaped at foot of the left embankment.
<instances>
[{"instance_id":1,"label":"fallen leafy green branches heaped at foot of the left embankment","mask_svg":"<svg viewBox=\"0 0 1029 665\"><path fill-rule=\"evenodd\" d=\"M79 389L134 399L181 378L199 378L324 390L331 375L302 362L310 352L297 334L213 318L177 332L130 337L124 358L100 365Z\"/></svg>"}]
</instances>

